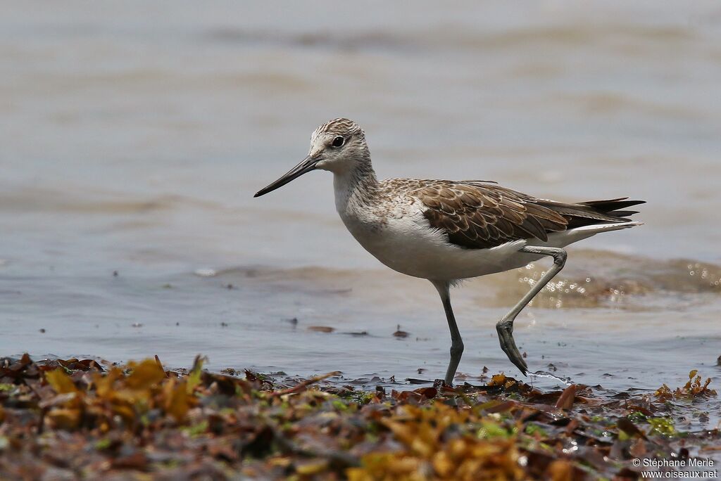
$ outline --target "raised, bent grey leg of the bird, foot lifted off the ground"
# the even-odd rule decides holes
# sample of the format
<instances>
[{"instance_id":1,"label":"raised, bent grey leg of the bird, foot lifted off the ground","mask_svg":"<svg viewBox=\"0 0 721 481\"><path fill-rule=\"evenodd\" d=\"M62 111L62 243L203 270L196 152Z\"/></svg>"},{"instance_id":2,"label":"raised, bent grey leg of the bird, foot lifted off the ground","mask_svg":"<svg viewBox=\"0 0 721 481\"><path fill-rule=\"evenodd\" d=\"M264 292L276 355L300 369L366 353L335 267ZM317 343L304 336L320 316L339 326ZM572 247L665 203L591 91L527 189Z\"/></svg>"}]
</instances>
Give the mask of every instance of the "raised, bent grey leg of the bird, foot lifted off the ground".
<instances>
[{"instance_id":1,"label":"raised, bent grey leg of the bird, foot lifted off the ground","mask_svg":"<svg viewBox=\"0 0 721 481\"><path fill-rule=\"evenodd\" d=\"M526 307L528 302L531 302L531 299L541 292L541 289L546 287L546 284L548 284L548 282L553 279L554 276L561 271L561 269L563 269L563 266L566 264L567 254L566 251L561 248L542 246L526 246L521 248L520 251L529 254L539 254L541 256L553 257L553 266L551 266L551 269L541 276L541 279L534 284L534 287L531 287L531 290L528 291L528 293L523 296L520 301L518 301L518 304L513 306L510 313L504 315L503 318L501 318L501 320L499 320L496 324L498 340L500 341L500 349L503 349L503 352L505 352L506 356L508 356L508 359L510 359L513 364L516 364L516 367L521 369L521 372L525 376L526 372L528 372L528 366L526 365L526 361L523 361L521 353L518 352L516 341L513 341L513 320L516 320L516 316L521 312L521 310L523 310L523 307Z\"/></svg>"}]
</instances>

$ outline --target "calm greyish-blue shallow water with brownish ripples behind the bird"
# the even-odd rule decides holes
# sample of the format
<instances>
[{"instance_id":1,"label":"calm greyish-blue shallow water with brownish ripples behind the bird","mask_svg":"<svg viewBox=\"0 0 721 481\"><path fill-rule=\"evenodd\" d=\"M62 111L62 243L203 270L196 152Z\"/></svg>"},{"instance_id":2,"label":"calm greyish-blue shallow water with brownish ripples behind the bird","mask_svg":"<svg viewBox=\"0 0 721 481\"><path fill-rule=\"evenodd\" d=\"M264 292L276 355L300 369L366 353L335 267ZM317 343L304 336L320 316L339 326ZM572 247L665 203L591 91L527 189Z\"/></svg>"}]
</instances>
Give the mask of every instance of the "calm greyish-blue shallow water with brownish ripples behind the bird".
<instances>
[{"instance_id":1,"label":"calm greyish-blue shallow water with brownish ripples behind the bird","mask_svg":"<svg viewBox=\"0 0 721 481\"><path fill-rule=\"evenodd\" d=\"M327 173L252 199L343 115L380 176L646 199L642 228L571 249L518 343L619 390L718 376L717 4L315 6L4 4L2 353L441 377L433 288L355 244ZM494 324L540 269L454 292L461 372L517 375Z\"/></svg>"}]
</instances>

